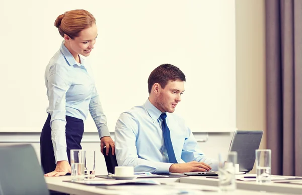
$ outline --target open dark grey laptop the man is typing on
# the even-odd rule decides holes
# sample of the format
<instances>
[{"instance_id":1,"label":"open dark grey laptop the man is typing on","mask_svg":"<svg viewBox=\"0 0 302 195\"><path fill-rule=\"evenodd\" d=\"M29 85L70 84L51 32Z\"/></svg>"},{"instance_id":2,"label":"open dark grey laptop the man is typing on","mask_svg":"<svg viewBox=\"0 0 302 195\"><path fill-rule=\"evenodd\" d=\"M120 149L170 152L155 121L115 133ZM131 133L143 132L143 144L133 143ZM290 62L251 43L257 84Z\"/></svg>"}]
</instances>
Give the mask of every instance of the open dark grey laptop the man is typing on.
<instances>
[{"instance_id":1,"label":"open dark grey laptop the man is typing on","mask_svg":"<svg viewBox=\"0 0 302 195\"><path fill-rule=\"evenodd\" d=\"M255 163L255 150L259 148L263 131L235 131L230 144L229 152L237 152L237 163L239 171L250 172ZM194 176L217 176L218 172L185 172L186 175Z\"/></svg>"}]
</instances>

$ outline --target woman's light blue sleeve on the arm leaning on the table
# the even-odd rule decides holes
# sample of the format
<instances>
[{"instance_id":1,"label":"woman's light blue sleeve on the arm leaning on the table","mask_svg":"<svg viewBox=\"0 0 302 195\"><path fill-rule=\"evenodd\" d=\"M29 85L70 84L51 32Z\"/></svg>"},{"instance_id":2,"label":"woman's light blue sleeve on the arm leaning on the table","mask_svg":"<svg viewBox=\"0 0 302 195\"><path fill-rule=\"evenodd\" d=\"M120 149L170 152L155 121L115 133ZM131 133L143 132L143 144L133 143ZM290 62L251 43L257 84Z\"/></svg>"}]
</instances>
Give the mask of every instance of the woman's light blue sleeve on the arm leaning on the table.
<instances>
[{"instance_id":1,"label":"woman's light blue sleeve on the arm leaning on the table","mask_svg":"<svg viewBox=\"0 0 302 195\"><path fill-rule=\"evenodd\" d=\"M52 67L55 69L56 66ZM55 161L67 160L66 152L66 92L70 87L70 83L66 81L66 75L60 71L52 70L47 78L49 105L48 110L51 115L51 141Z\"/></svg>"}]
</instances>

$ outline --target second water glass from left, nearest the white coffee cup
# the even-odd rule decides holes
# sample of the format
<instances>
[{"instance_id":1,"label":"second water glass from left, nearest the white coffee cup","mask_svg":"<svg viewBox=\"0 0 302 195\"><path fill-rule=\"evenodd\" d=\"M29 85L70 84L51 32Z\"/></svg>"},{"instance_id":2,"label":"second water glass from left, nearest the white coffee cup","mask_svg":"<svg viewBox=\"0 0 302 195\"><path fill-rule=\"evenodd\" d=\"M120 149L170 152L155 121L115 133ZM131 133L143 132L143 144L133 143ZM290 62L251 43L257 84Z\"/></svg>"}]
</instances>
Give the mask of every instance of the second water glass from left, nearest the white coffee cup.
<instances>
[{"instance_id":1,"label":"second water glass from left, nearest the white coffee cup","mask_svg":"<svg viewBox=\"0 0 302 195\"><path fill-rule=\"evenodd\" d=\"M92 179L96 176L96 151L85 151L85 179Z\"/></svg>"}]
</instances>

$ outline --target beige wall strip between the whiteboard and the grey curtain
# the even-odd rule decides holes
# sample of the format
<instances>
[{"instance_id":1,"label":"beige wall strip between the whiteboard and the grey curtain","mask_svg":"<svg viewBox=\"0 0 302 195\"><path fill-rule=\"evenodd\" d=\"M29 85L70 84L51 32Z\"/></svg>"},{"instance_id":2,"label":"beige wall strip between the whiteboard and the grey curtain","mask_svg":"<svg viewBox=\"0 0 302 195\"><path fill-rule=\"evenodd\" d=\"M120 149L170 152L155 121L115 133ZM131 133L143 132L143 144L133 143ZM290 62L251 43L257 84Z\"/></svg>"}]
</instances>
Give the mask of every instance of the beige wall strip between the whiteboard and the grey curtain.
<instances>
[{"instance_id":1,"label":"beige wall strip between the whiteboard and the grey curtain","mask_svg":"<svg viewBox=\"0 0 302 195\"><path fill-rule=\"evenodd\" d=\"M236 0L236 113L239 130L264 130L266 148L264 0Z\"/></svg>"}]
</instances>

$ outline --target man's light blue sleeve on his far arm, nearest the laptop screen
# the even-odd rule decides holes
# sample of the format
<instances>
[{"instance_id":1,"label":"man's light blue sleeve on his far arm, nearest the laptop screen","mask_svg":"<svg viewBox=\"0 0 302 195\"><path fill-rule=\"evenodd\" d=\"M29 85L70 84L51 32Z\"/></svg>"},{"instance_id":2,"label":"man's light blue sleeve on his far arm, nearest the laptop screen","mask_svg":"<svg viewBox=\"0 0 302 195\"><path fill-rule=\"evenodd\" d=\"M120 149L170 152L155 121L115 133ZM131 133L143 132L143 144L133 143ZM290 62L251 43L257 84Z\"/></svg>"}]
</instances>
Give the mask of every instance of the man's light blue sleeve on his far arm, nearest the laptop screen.
<instances>
[{"instance_id":1,"label":"man's light blue sleeve on his far arm, nearest the laptop screen","mask_svg":"<svg viewBox=\"0 0 302 195\"><path fill-rule=\"evenodd\" d=\"M185 162L191 162L191 161L198 161L198 162L204 162L211 166L211 170L217 171L218 170L218 161L207 158L200 150L200 147L195 140L193 133L189 128L188 129L188 137L185 138L185 143L183 146L181 158Z\"/></svg>"}]
</instances>

